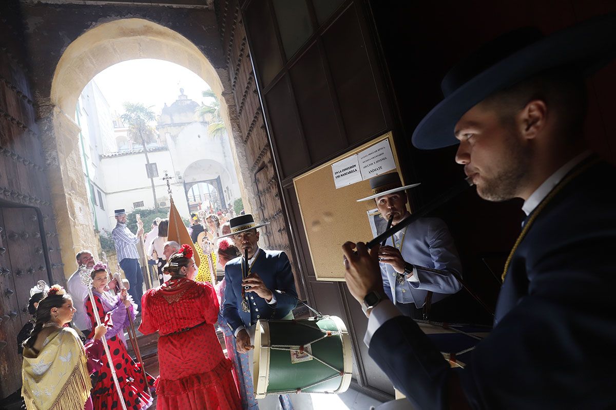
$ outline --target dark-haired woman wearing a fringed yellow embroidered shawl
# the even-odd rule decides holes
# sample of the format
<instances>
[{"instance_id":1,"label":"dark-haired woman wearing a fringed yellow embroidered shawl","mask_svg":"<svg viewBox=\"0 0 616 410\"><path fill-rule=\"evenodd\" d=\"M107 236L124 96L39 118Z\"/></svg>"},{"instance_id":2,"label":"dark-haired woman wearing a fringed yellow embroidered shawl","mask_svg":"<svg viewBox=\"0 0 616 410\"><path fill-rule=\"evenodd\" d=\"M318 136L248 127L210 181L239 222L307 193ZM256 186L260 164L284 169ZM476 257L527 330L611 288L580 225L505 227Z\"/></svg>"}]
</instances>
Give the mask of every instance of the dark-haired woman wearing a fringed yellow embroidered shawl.
<instances>
[{"instance_id":1,"label":"dark-haired woman wearing a fringed yellow embroidered shawl","mask_svg":"<svg viewBox=\"0 0 616 410\"><path fill-rule=\"evenodd\" d=\"M97 326L86 346L75 330L64 327L73 319L73 300L53 285L36 308L36 322L23 343L22 396L28 410L92 410L90 376L103 355Z\"/></svg>"}]
</instances>

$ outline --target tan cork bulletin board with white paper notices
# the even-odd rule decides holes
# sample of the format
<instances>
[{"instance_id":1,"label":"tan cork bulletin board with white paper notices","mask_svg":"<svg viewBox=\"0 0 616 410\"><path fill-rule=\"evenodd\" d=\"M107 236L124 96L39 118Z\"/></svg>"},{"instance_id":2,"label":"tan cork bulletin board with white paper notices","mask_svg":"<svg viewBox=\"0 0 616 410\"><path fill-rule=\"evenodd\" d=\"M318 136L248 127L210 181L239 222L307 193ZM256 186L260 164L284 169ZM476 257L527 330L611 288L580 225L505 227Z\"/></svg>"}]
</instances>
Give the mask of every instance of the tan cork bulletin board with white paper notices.
<instances>
[{"instance_id":1,"label":"tan cork bulletin board with white paper notices","mask_svg":"<svg viewBox=\"0 0 616 410\"><path fill-rule=\"evenodd\" d=\"M344 281L342 244L347 240L368 242L373 238L366 212L376 207L375 201L357 202L371 195L370 182L355 182L336 189L332 166L344 163L349 157L384 140L389 141L395 162L395 169L388 172L400 174L394 139L390 132L293 179L310 258L318 281ZM402 174L400 179L405 184Z\"/></svg>"}]
</instances>

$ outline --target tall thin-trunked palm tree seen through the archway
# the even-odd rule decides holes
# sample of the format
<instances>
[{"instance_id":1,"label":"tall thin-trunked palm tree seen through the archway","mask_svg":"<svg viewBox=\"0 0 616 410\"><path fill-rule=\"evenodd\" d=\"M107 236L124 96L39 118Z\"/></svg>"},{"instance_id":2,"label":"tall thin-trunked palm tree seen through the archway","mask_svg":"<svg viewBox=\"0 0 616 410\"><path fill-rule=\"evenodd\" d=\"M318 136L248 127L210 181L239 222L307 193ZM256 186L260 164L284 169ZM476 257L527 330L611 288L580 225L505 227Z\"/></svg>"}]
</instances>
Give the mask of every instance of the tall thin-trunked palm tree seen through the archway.
<instances>
[{"instance_id":1,"label":"tall thin-trunked palm tree seen through the archway","mask_svg":"<svg viewBox=\"0 0 616 410\"><path fill-rule=\"evenodd\" d=\"M144 147L146 167L150 170L150 158L148 158L148 150L145 144L146 139L152 142L155 139L155 131L150 123L155 120L154 112L150 107L140 102L124 102L124 113L120 119L128 126L128 136L133 142L141 142ZM158 201L156 200L156 188L154 187L154 176L150 173L150 182L152 182L152 195L154 197L154 208L158 211Z\"/></svg>"}]
</instances>

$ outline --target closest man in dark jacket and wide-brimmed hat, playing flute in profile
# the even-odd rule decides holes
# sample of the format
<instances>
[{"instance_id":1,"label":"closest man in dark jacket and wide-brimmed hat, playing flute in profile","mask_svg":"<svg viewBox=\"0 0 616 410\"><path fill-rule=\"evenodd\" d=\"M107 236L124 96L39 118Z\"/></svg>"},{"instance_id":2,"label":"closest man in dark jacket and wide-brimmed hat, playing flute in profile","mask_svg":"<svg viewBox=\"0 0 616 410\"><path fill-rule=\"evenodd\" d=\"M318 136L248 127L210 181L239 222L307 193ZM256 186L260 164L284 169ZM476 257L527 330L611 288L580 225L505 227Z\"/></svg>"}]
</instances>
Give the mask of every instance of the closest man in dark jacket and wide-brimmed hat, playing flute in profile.
<instances>
[{"instance_id":1,"label":"closest man in dark jacket and wide-brimmed hat, playing flute in profile","mask_svg":"<svg viewBox=\"0 0 616 410\"><path fill-rule=\"evenodd\" d=\"M466 368L383 297L378 247L343 245L370 356L417 408L616 408L616 170L582 137L583 78L615 52L615 15L509 33L448 73L413 134L422 149L460 142L456 162L480 197L525 201L493 331Z\"/></svg>"}]
</instances>

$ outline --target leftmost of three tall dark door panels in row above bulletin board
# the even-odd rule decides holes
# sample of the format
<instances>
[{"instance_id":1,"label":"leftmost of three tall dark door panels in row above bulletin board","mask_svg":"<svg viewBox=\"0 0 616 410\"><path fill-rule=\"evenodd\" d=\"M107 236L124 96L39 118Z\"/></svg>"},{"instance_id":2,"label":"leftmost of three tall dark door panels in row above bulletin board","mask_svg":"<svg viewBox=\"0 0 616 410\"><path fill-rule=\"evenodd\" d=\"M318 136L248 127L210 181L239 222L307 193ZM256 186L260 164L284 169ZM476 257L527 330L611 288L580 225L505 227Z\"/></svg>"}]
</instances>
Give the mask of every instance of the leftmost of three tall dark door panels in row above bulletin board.
<instances>
[{"instance_id":1,"label":"leftmost of three tall dark door panels in row above bulletin board","mask_svg":"<svg viewBox=\"0 0 616 410\"><path fill-rule=\"evenodd\" d=\"M310 165L310 158L304 150L301 125L295 111L295 101L291 97L288 76L275 84L265 95L270 132L278 152L282 178L292 175Z\"/></svg>"}]
</instances>

